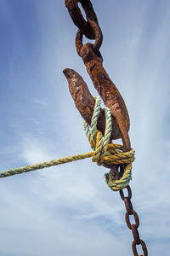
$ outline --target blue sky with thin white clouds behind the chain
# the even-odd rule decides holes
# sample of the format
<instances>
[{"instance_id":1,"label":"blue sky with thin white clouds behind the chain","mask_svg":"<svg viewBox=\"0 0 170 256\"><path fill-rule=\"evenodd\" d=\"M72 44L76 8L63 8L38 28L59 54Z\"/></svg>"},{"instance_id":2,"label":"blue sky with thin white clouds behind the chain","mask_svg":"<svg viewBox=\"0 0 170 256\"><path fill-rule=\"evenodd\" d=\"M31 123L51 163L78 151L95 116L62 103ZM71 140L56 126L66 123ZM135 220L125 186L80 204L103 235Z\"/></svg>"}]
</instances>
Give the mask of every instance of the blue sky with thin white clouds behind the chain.
<instances>
[{"instance_id":1,"label":"blue sky with thin white clouds behind the chain","mask_svg":"<svg viewBox=\"0 0 170 256\"><path fill-rule=\"evenodd\" d=\"M75 69L98 94L77 55L77 27L64 2L0 0L2 172L91 150L62 70ZM167 256L170 2L92 3L104 34L104 67L131 120L139 234L149 255ZM131 256L123 201L105 172L88 159L1 179L0 256Z\"/></svg>"}]
</instances>

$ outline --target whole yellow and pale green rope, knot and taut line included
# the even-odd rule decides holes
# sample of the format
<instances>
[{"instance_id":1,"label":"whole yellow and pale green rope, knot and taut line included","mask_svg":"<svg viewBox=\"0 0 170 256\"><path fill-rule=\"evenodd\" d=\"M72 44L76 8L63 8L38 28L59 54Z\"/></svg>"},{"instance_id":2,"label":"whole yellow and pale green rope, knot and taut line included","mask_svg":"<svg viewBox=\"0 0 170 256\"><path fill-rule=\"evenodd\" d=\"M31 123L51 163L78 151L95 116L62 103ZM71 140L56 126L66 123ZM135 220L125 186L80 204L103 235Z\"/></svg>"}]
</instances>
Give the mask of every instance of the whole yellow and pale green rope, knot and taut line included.
<instances>
[{"instance_id":1,"label":"whole yellow and pale green rope, knot and taut line included","mask_svg":"<svg viewBox=\"0 0 170 256\"><path fill-rule=\"evenodd\" d=\"M31 166L23 166L20 168L15 168L0 172L0 177L13 176L15 174L20 174L23 172L36 171L38 169L43 169L50 166L58 166L71 161L83 160L92 157L92 160L100 165L125 165L125 171L119 180L113 181L110 172L105 174L105 181L109 187L114 190L121 190L126 188L130 180L132 179L132 162L134 160L134 150L131 149L129 152L122 152L122 145L110 143L111 138L111 112L109 108L105 107L105 135L103 137L101 131L97 130L97 121L99 118L101 99L96 98L94 113L89 125L84 121L84 131L88 137L88 141L91 148L94 149L93 152L85 154L71 155L58 160L51 160L48 162L42 162Z\"/></svg>"}]
</instances>

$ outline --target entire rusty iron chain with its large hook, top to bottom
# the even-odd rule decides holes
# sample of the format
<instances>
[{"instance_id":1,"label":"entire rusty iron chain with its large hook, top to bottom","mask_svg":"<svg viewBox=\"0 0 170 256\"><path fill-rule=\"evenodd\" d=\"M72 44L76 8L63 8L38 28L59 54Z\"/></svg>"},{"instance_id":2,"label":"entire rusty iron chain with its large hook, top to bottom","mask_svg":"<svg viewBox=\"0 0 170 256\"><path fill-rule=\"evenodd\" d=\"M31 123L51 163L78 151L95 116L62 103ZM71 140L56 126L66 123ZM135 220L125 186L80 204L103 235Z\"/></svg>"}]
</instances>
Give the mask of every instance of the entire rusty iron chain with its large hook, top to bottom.
<instances>
[{"instance_id":1,"label":"entire rusty iron chain with its large hook, top to bottom","mask_svg":"<svg viewBox=\"0 0 170 256\"><path fill-rule=\"evenodd\" d=\"M83 18L78 3L81 3L87 20ZM112 126L114 127L114 131L111 134L111 139L122 138L124 151L128 151L131 146L127 133L129 130L127 108L121 94L116 89L116 85L112 83L108 74L105 72L104 67L102 66L103 58L99 52L99 49L103 41L103 35L99 27L97 16L94 12L93 5L90 0L65 0L65 7L68 9L74 24L78 27L76 36L77 54L82 57L82 61L87 67L88 74L93 80L94 87L96 90L98 90L99 95L105 103L105 106L111 110ZM83 45L83 35L89 39L95 39L95 43ZM69 82L71 96L73 97L82 118L85 119L88 124L90 124L94 110L94 98L89 93L87 84L85 84L82 77L72 69L65 68L64 73ZM100 109L98 129L102 133L105 131L104 120L104 113L102 109ZM116 180L119 177L122 177L125 165L105 167L111 168L111 177L113 180ZM132 190L129 185L126 189L127 196L124 195L124 189L120 190L120 196L122 201L124 201L126 208L125 219L127 227L132 230L133 234L133 255L139 256L137 245L141 245L143 255L140 256L147 256L147 247L144 241L139 237L139 216L138 213L133 209L133 204L131 201ZM131 224L129 218L130 215L133 215L134 224Z\"/></svg>"}]
</instances>

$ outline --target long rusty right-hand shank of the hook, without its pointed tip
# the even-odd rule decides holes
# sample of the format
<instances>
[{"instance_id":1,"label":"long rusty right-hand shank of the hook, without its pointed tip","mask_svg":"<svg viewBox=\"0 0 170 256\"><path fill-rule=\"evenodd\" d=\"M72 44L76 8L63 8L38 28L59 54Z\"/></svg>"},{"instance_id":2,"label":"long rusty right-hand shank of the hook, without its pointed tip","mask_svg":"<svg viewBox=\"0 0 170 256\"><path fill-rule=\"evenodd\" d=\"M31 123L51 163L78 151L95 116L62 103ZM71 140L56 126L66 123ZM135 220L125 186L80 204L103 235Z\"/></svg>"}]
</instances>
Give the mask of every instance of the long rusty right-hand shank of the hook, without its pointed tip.
<instances>
[{"instance_id":1,"label":"long rusty right-hand shank of the hook, without its pointed tip","mask_svg":"<svg viewBox=\"0 0 170 256\"><path fill-rule=\"evenodd\" d=\"M96 34L99 36L99 31L97 32L96 30ZM111 114L116 118L117 125L121 131L124 151L128 151L131 146L127 133L130 126L127 108L119 90L116 88L116 85L113 84L110 77L105 72L101 56L99 56L99 53L96 53L94 50L94 45L99 46L98 42L100 41L96 38L95 44L88 43L83 45L82 35L80 32L77 32L77 52L82 57L82 61L84 62L88 74L94 83L95 89L99 92L99 96L101 96L105 106L110 108Z\"/></svg>"}]
</instances>

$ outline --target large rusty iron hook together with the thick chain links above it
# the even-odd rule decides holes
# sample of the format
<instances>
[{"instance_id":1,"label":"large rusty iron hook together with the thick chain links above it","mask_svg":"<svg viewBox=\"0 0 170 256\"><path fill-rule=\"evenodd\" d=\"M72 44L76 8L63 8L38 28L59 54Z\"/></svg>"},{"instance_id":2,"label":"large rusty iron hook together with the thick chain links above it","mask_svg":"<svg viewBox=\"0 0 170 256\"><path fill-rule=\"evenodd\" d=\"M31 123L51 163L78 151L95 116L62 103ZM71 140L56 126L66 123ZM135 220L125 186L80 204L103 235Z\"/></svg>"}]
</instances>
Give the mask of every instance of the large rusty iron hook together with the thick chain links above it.
<instances>
[{"instance_id":1,"label":"large rusty iron hook together with the thick chain links above it","mask_svg":"<svg viewBox=\"0 0 170 256\"><path fill-rule=\"evenodd\" d=\"M82 4L82 8L86 12L88 21L85 21L83 19L77 2L80 2ZM99 92L99 96L101 96L103 102L105 103L105 106L110 108L111 110L111 114L113 116L112 123L116 127L116 131L115 133L113 132L111 138L121 137L123 143L123 151L129 151L131 148L130 140L128 137L130 121L127 113L127 108L119 90L117 90L116 85L113 84L110 77L105 72L105 68L102 65L103 58L99 52L99 48L103 41L103 35L101 29L99 28L98 21L96 21L97 18L95 19L96 15L94 14L92 4L89 0L65 0L65 6L69 10L72 20L79 27L76 37L77 53L82 57L82 61L84 62L88 74L94 83L95 89ZM89 7L89 10L87 9L87 7ZM86 33L82 31L82 28L87 25L88 27L90 27L91 32L93 32L93 38L95 38L95 43L88 43L83 45L82 36L83 34L86 35ZM94 107L94 100L92 100L92 96L89 93L88 86L84 83L82 77L73 70L66 68L64 70L64 73L65 77L68 79L71 95L73 96L73 99L76 102L76 106L79 112L82 114L82 117L86 119L89 124L89 121L92 117L92 105ZM78 89L78 93L76 93L77 88L83 88L83 90ZM86 93L82 93L82 96L80 91L86 91ZM91 102L91 106L89 107L88 105L84 108L83 102L77 100L77 95L82 99L84 99L85 97L86 100L84 99L84 102L88 102L88 104L89 102ZM77 102L82 102L83 107L79 103L77 104ZM102 115L103 114L101 111L101 119L104 119ZM99 130L103 132L104 126L105 125L99 125ZM113 127L113 130L115 130L115 127ZM117 168L114 167L114 169L116 169L115 171L117 172Z\"/></svg>"}]
</instances>

